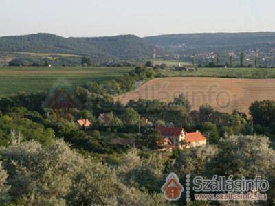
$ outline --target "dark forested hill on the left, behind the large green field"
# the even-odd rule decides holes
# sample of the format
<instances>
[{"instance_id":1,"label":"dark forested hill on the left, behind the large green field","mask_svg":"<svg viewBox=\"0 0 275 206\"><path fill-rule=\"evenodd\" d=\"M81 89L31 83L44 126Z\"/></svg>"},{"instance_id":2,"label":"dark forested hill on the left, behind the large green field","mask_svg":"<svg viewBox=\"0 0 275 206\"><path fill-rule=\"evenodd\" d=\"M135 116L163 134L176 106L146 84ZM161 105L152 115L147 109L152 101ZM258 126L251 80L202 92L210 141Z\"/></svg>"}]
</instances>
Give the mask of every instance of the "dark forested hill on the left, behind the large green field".
<instances>
[{"instance_id":1,"label":"dark forested hill on the left, behind the large green field","mask_svg":"<svg viewBox=\"0 0 275 206\"><path fill-rule=\"evenodd\" d=\"M0 52L78 54L102 60L148 58L153 55L154 48L142 38L133 35L64 38L40 33L0 37Z\"/></svg>"}]
</instances>

